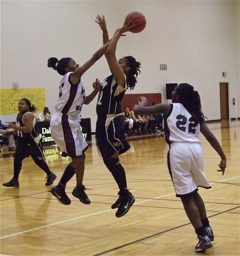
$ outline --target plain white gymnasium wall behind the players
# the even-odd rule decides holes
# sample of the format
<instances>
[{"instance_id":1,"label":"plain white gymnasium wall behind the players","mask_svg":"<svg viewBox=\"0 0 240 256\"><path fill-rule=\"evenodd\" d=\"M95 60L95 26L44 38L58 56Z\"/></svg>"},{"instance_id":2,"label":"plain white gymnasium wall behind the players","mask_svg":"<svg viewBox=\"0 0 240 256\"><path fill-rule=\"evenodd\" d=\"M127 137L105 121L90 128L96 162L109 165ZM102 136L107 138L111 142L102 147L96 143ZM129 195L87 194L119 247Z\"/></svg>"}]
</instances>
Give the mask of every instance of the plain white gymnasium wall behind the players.
<instances>
[{"instance_id":1,"label":"plain white gymnasium wall behind the players","mask_svg":"<svg viewBox=\"0 0 240 256\"><path fill-rule=\"evenodd\" d=\"M117 58L134 56L142 74L133 92L162 93L166 83L190 83L201 95L208 120L220 119L220 82L229 83L230 118L240 116L239 107L239 1L1 1L1 88L46 88L46 105L54 112L61 76L47 68L48 58L72 57L83 64L102 45L95 23L105 15L109 35L124 22L127 13L145 14L141 33L120 39ZM160 71L167 64L168 71ZM227 77L222 76L227 72ZM104 57L82 81L86 92L92 82L109 75ZM232 106L235 97L237 105ZM31 100L31 99L30 99ZM82 116L92 118L95 104L83 107ZM4 121L15 115L1 116Z\"/></svg>"}]
</instances>

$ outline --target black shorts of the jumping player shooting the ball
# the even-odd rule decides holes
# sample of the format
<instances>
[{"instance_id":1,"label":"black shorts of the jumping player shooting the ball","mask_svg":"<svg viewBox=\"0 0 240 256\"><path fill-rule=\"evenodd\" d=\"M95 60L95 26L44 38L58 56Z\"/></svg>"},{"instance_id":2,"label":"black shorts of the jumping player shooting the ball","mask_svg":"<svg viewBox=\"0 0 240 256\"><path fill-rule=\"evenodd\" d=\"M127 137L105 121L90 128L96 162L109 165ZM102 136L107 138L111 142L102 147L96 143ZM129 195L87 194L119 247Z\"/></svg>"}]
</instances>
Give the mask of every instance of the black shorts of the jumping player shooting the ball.
<instances>
[{"instance_id":1,"label":"black shorts of the jumping player shooting the ball","mask_svg":"<svg viewBox=\"0 0 240 256\"><path fill-rule=\"evenodd\" d=\"M97 146L106 159L119 150L123 154L131 147L124 134L124 115L114 118L97 118L96 125Z\"/></svg>"}]
</instances>

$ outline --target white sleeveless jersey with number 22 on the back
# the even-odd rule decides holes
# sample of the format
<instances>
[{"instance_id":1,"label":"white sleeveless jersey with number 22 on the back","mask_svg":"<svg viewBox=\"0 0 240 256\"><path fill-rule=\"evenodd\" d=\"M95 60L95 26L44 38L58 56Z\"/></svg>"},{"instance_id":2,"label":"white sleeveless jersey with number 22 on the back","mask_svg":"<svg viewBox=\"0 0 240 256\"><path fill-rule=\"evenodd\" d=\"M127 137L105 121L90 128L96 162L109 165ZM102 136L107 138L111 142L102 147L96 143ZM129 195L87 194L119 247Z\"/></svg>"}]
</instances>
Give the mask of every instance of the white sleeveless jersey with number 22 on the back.
<instances>
[{"instance_id":1,"label":"white sleeveless jersey with number 22 on the back","mask_svg":"<svg viewBox=\"0 0 240 256\"><path fill-rule=\"evenodd\" d=\"M181 103L172 103L164 118L164 136L169 145L173 142L200 143L200 124Z\"/></svg>"}]
</instances>

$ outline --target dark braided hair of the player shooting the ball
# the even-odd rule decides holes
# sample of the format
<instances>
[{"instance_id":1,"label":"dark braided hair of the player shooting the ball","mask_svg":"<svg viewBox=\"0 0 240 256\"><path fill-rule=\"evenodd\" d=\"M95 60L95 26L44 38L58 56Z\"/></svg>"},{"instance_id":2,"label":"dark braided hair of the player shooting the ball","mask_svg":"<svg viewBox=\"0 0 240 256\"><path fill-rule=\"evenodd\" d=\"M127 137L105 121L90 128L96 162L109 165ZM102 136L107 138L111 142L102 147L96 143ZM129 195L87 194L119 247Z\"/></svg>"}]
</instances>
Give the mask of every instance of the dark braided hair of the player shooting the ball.
<instances>
[{"instance_id":1,"label":"dark braided hair of the player shooting the ball","mask_svg":"<svg viewBox=\"0 0 240 256\"><path fill-rule=\"evenodd\" d=\"M125 56L124 59L127 61L127 66L131 67L127 73L127 87L133 90L137 83L138 74L141 73L141 63L132 56Z\"/></svg>"}]
</instances>

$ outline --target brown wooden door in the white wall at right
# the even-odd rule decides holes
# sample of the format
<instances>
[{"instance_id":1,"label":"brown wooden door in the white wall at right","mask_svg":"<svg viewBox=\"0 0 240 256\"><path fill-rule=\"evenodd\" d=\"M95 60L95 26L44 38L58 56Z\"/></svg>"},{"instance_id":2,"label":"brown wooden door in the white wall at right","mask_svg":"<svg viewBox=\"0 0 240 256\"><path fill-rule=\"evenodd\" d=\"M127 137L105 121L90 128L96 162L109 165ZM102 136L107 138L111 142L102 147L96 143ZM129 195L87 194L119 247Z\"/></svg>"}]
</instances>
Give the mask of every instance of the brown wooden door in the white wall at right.
<instances>
[{"instance_id":1,"label":"brown wooden door in the white wall at right","mask_svg":"<svg viewBox=\"0 0 240 256\"><path fill-rule=\"evenodd\" d=\"M229 120L228 83L220 83L221 120Z\"/></svg>"}]
</instances>

